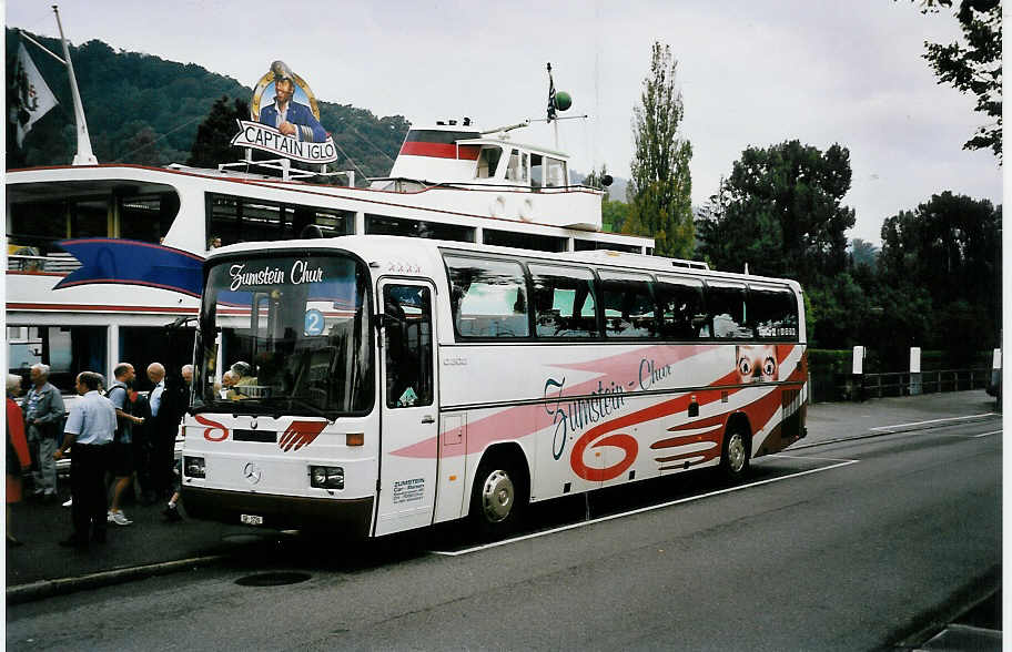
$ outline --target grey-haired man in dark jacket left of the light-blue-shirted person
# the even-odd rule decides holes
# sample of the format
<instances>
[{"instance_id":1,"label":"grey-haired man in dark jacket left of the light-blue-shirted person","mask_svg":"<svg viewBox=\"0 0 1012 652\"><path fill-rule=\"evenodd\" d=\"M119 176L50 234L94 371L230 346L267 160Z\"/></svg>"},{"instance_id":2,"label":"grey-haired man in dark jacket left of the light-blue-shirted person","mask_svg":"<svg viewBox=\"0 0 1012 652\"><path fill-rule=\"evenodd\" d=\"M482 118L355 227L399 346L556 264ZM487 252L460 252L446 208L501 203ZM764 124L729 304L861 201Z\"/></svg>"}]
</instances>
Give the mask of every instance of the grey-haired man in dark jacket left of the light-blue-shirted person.
<instances>
[{"instance_id":1,"label":"grey-haired man in dark jacket left of the light-blue-shirted person","mask_svg":"<svg viewBox=\"0 0 1012 652\"><path fill-rule=\"evenodd\" d=\"M32 456L32 496L50 501L57 499L55 452L63 437L63 397L49 383L49 365L31 368L32 388L24 397L24 431Z\"/></svg>"}]
</instances>

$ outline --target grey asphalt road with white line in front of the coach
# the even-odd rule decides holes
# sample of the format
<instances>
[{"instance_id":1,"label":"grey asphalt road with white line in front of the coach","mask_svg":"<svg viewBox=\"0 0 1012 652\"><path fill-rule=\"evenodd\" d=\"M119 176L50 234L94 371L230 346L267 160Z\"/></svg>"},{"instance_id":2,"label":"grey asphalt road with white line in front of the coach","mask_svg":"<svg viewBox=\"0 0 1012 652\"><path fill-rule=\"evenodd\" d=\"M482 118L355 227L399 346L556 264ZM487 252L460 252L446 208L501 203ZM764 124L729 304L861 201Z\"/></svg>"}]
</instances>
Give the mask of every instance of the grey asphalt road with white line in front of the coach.
<instances>
[{"instance_id":1,"label":"grey asphalt road with white line in front of the coach","mask_svg":"<svg viewBox=\"0 0 1012 652\"><path fill-rule=\"evenodd\" d=\"M684 476L597 493L589 506L577 498L536 510L540 532L493 547L449 530L360 548L271 540L230 548L227 561L192 572L11 605L7 645L859 650L909 642L986 594L1000 574L1001 424L981 416L991 408L983 393L944 397L814 406L809 441L758 463L749 486ZM848 435L861 438L832 442ZM210 537L204 526L188 526ZM144 530L155 524L136 532ZM214 543L234 539L219 534ZM269 571L307 579L236 583Z\"/></svg>"}]
</instances>

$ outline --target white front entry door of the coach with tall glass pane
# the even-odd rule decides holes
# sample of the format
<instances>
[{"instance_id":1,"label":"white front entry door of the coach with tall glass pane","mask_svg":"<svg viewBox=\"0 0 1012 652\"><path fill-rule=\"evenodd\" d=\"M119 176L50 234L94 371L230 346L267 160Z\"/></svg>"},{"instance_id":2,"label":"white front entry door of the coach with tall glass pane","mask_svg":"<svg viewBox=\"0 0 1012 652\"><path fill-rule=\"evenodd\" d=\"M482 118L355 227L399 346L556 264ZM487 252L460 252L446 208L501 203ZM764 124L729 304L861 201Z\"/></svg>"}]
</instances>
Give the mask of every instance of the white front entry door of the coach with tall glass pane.
<instances>
[{"instance_id":1,"label":"white front entry door of the coach with tall glass pane","mask_svg":"<svg viewBox=\"0 0 1012 652\"><path fill-rule=\"evenodd\" d=\"M433 286L381 282L382 408L376 534L427 526L436 501Z\"/></svg>"}]
</instances>

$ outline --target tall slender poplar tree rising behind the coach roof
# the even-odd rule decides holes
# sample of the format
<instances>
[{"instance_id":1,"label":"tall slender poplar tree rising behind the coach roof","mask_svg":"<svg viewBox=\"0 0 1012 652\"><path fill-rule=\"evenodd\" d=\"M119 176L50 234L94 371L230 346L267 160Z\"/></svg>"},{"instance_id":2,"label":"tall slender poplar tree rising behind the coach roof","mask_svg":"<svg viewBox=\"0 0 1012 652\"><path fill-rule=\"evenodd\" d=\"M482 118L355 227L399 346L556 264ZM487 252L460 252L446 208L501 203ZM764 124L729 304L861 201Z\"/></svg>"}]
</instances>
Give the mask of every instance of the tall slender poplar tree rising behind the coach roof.
<instances>
[{"instance_id":1,"label":"tall slender poplar tree rising behind the coach roof","mask_svg":"<svg viewBox=\"0 0 1012 652\"><path fill-rule=\"evenodd\" d=\"M657 254L688 258L695 246L692 145L679 131L684 108L675 86L677 69L671 48L655 42L650 75L632 111L632 201L623 233L652 236Z\"/></svg>"}]
</instances>

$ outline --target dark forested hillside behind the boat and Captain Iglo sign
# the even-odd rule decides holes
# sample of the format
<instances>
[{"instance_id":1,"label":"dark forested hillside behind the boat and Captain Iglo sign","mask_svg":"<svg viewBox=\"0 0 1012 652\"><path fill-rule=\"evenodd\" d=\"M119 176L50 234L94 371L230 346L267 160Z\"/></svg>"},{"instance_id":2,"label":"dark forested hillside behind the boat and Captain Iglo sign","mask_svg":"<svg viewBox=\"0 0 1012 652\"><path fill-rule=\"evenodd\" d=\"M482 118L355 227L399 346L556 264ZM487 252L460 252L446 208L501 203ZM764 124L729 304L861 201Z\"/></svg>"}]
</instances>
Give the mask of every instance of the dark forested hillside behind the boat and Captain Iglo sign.
<instances>
[{"instance_id":1,"label":"dark forested hillside behind the boat and Captain Iglo sign","mask_svg":"<svg viewBox=\"0 0 1012 652\"><path fill-rule=\"evenodd\" d=\"M74 154L73 104L67 70L17 30L7 29L7 79L18 43L24 42L47 84L60 104L42 118L28 134L23 149L17 146L8 123L7 166L63 165ZM60 42L32 38L62 55ZM102 41L70 48L78 86L84 104L88 129L100 163L165 165L185 163L198 126L222 96L229 104L249 101L252 88L232 78L209 72L200 65L165 61L136 52L115 51ZM8 88L8 108L12 103ZM370 111L347 104L320 101L320 118L334 142L354 161L335 163L336 169L358 167L370 176L385 175L407 132L401 115L376 118ZM240 152L236 151L236 159Z\"/></svg>"}]
</instances>

